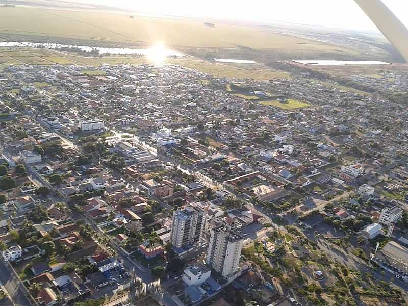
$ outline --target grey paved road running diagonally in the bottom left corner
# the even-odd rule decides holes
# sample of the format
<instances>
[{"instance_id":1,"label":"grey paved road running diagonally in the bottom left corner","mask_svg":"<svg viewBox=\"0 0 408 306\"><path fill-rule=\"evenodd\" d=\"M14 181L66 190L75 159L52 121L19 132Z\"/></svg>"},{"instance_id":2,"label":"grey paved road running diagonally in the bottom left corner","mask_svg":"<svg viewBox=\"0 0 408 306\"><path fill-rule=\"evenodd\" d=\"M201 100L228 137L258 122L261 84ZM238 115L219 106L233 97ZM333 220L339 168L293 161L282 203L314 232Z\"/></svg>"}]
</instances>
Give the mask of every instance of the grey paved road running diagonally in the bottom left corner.
<instances>
[{"instance_id":1,"label":"grey paved road running diagonally in the bottom left corner","mask_svg":"<svg viewBox=\"0 0 408 306\"><path fill-rule=\"evenodd\" d=\"M10 272L6 264L0 260L0 282L10 295L13 304L20 304L21 306L32 306L29 299L25 296L25 292L22 289L22 284L19 283L17 278Z\"/></svg>"}]
</instances>

